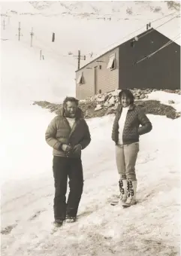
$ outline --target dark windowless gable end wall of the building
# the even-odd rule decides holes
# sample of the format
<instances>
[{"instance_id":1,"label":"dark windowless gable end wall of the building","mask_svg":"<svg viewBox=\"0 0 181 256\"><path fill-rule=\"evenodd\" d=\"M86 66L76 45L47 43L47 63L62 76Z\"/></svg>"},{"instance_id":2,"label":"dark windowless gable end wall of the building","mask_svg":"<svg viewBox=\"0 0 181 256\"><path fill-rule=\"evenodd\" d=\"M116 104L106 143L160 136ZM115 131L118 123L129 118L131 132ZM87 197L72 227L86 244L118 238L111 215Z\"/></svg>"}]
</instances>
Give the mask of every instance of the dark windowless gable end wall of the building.
<instances>
[{"instance_id":1,"label":"dark windowless gable end wall of the building","mask_svg":"<svg viewBox=\"0 0 181 256\"><path fill-rule=\"evenodd\" d=\"M134 65L137 60L158 50L169 41L157 31L138 39L134 47L130 41L119 47L119 89L156 88L175 90L180 88L180 47L170 44L149 59Z\"/></svg>"}]
</instances>

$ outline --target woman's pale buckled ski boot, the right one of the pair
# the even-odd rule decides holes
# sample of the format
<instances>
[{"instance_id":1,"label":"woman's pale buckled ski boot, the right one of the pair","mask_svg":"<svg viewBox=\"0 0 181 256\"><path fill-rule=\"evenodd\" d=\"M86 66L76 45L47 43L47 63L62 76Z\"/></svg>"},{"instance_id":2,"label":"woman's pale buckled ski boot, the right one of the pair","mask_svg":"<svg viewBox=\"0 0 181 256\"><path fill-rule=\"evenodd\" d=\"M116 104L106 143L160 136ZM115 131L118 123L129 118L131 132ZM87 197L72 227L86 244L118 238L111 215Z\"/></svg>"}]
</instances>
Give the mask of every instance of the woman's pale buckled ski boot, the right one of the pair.
<instances>
[{"instance_id":1,"label":"woman's pale buckled ski boot, the right one of the pair","mask_svg":"<svg viewBox=\"0 0 181 256\"><path fill-rule=\"evenodd\" d=\"M124 208L133 206L136 204L137 193L137 181L127 181L128 197L125 203L122 203Z\"/></svg>"}]
</instances>

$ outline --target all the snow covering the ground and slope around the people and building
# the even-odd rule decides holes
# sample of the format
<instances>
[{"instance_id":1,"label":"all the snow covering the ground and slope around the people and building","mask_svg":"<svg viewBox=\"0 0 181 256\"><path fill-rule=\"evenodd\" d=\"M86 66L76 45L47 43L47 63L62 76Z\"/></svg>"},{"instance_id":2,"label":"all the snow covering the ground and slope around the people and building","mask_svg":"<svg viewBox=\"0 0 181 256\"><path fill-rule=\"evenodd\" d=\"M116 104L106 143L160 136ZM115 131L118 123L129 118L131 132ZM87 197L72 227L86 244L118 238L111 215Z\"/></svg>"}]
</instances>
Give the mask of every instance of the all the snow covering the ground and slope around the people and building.
<instances>
[{"instance_id":1,"label":"all the snow covering the ground and slope around the people and building","mask_svg":"<svg viewBox=\"0 0 181 256\"><path fill-rule=\"evenodd\" d=\"M26 12L32 12L26 3ZM19 5L22 12L23 5ZM6 6L12 10L11 4ZM167 14L165 10L164 14ZM150 16L154 19L158 14ZM20 42L16 35L18 21L23 28ZM35 39L30 47L32 23ZM140 21L136 23L132 27L127 23L127 33L141 25ZM68 50L75 54L79 49L89 53L102 47L103 42L107 45L117 41L120 35L115 31L120 23L114 20L109 24L75 17L11 14L10 24L2 29L3 256L179 255L180 118L170 120L149 115L153 130L140 137L136 166L138 204L130 209L110 206L113 194L118 194L119 180L114 144L110 139L113 115L87 120L92 142L83 151L85 181L80 218L77 223L65 224L51 234L52 149L44 141L44 133L54 114L32 105L32 102L60 102L66 95L74 95L77 60L64 55ZM124 26L125 21L121 24ZM173 29L177 27L173 26ZM52 44L47 41L47 36L51 38L55 31L56 44ZM109 32L111 38L107 38ZM95 34L97 41L93 44L90 39L92 35L95 38ZM39 60L41 49L44 61ZM149 99L158 99L165 104L167 100L173 100L173 106L180 111L178 95L156 92L151 93Z\"/></svg>"}]
</instances>

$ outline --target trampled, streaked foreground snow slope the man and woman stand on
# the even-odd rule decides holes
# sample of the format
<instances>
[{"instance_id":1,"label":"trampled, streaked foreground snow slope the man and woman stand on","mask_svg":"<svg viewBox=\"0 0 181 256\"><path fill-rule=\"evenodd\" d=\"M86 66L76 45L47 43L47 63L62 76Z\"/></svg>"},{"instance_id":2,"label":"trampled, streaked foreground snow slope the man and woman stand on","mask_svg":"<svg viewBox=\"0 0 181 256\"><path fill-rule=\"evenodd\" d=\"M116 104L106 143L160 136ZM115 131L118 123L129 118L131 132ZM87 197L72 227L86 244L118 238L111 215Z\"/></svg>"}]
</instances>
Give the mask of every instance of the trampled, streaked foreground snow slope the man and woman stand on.
<instances>
[{"instance_id":1,"label":"trampled, streaked foreground snow slope the man and woman stand on","mask_svg":"<svg viewBox=\"0 0 181 256\"><path fill-rule=\"evenodd\" d=\"M153 130L141 137L137 159L137 206L110 206L119 179L110 140L113 116L89 120L92 143L83 151L79 221L51 234L53 175L47 154L43 178L2 190L2 228L12 229L2 236L2 255L179 255L180 120L149 118Z\"/></svg>"}]
</instances>

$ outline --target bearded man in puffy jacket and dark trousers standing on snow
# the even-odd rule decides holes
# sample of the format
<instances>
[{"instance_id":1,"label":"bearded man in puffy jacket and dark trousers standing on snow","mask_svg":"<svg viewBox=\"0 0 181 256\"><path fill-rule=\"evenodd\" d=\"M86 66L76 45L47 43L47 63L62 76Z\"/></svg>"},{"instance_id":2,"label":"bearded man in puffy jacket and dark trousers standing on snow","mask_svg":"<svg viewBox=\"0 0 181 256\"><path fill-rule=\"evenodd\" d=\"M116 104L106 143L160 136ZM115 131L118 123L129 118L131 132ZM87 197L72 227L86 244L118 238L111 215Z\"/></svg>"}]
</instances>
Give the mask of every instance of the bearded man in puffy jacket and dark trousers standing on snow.
<instances>
[{"instance_id":1,"label":"bearded man in puffy jacket and dark trousers standing on snow","mask_svg":"<svg viewBox=\"0 0 181 256\"><path fill-rule=\"evenodd\" d=\"M66 97L61 114L54 117L45 134L46 142L53 148L53 176L55 181L54 224L76 221L83 193L83 166L81 151L90 141L89 127L78 108L78 100ZM67 182L70 193L66 203Z\"/></svg>"}]
</instances>

